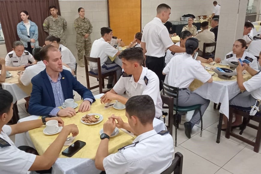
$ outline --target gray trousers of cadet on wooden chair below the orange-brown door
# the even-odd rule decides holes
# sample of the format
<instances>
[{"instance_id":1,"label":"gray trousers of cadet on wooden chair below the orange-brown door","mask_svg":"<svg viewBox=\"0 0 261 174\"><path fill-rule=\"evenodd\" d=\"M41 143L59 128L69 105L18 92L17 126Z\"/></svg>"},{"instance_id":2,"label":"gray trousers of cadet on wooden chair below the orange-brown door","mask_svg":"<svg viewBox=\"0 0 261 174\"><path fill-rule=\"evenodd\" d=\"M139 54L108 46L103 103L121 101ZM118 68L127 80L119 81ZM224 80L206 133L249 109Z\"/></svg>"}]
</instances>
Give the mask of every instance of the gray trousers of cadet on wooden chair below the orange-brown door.
<instances>
[{"instance_id":1,"label":"gray trousers of cadet on wooden chair below the orange-brown door","mask_svg":"<svg viewBox=\"0 0 261 174\"><path fill-rule=\"evenodd\" d=\"M108 72L111 72L111 71L116 71L116 74L117 74L116 82L117 82L119 80L120 76L121 76L122 68L115 63L102 65L102 67L101 67L101 73L102 74L108 73ZM91 72L98 74L98 69L96 69L96 70L91 69ZM113 76L109 76L108 84L109 85L110 84L115 85L114 81L113 81Z\"/></svg>"}]
</instances>

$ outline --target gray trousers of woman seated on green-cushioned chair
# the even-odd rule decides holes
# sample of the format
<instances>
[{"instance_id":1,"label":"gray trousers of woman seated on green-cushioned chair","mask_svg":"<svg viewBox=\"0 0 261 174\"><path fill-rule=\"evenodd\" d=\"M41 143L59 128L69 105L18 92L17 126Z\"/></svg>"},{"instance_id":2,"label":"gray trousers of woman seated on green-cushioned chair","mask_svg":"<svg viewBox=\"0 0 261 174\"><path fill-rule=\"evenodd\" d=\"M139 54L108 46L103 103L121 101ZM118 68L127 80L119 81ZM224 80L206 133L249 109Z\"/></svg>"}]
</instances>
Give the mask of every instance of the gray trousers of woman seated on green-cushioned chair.
<instances>
[{"instance_id":1,"label":"gray trousers of woman seated on green-cushioned chair","mask_svg":"<svg viewBox=\"0 0 261 174\"><path fill-rule=\"evenodd\" d=\"M205 113L205 110L207 109L208 105L210 103L210 100L207 100L205 98L202 98L200 95L193 94L189 90L183 90L179 91L179 98L178 98L178 106L180 107L187 107L187 106L193 106L196 104L201 104L201 113L202 116ZM176 100L174 100L174 104L176 105ZM199 110L195 110L192 118L190 119L190 122L192 124L198 125L200 122L200 114Z\"/></svg>"}]
</instances>

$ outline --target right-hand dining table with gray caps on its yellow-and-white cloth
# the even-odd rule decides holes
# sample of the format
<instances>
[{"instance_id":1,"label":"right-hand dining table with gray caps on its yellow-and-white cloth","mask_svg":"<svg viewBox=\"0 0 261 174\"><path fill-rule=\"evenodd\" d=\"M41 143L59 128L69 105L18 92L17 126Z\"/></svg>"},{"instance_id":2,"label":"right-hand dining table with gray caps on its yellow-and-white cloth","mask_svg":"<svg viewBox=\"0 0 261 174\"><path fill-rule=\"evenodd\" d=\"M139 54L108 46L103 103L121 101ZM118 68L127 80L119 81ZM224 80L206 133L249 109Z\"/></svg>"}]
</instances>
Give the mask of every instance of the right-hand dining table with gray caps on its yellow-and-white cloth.
<instances>
[{"instance_id":1,"label":"right-hand dining table with gray caps on its yellow-and-white cloth","mask_svg":"<svg viewBox=\"0 0 261 174\"><path fill-rule=\"evenodd\" d=\"M227 118L229 117L229 100L235 97L237 94L241 92L237 84L237 77L232 76L230 79L221 79L218 77L216 73L212 70L211 67L221 67L230 69L229 65L221 65L221 63L211 62L211 63L202 63L207 71L213 75L212 83L202 83L201 81L195 79L189 86L190 91L193 93L200 95L202 98L213 101L214 103L221 103L219 109L219 128L217 132L217 140L216 142L220 142L220 134L221 134L221 125L223 115ZM247 81L252 76L246 71L243 71L244 81Z\"/></svg>"}]
</instances>

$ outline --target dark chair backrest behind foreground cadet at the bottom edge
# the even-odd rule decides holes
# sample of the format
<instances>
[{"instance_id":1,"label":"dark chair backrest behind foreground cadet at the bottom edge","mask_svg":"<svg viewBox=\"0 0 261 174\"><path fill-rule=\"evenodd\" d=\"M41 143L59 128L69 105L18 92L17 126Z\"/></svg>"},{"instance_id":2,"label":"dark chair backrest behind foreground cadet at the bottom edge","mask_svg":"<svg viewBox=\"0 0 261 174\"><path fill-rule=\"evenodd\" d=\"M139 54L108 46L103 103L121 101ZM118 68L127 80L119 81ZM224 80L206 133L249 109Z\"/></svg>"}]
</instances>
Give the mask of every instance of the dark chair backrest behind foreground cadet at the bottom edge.
<instances>
[{"instance_id":1,"label":"dark chair backrest behind foreground cadet at the bottom edge","mask_svg":"<svg viewBox=\"0 0 261 174\"><path fill-rule=\"evenodd\" d=\"M175 153L175 158L172 160L172 164L161 174L182 174L183 155L180 152Z\"/></svg>"}]
</instances>

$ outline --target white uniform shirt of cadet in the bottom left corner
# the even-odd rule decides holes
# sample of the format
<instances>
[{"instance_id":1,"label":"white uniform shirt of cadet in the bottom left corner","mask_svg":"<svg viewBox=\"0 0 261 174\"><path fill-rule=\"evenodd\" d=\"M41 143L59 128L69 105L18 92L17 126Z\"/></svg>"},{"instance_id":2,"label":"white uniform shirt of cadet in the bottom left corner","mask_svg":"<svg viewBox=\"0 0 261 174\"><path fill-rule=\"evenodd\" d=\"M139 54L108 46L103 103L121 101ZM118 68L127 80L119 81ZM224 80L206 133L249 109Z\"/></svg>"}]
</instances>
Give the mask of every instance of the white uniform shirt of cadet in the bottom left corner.
<instances>
[{"instance_id":1,"label":"white uniform shirt of cadet in the bottom left corner","mask_svg":"<svg viewBox=\"0 0 261 174\"><path fill-rule=\"evenodd\" d=\"M0 134L0 138L11 145L0 147L0 173L25 174L34 163L36 155L17 149L13 141L8 137L11 132L11 127L4 125Z\"/></svg>"}]
</instances>

